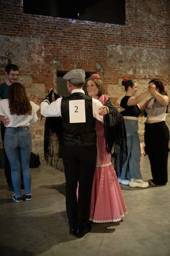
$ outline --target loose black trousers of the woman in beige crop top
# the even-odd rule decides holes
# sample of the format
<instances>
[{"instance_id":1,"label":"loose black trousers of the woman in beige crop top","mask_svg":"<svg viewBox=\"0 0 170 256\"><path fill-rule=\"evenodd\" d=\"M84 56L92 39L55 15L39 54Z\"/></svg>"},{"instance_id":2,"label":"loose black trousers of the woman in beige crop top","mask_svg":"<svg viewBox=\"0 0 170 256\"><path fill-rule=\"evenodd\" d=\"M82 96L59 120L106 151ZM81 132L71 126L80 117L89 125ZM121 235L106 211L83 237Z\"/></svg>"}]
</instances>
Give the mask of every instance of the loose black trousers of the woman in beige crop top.
<instances>
[{"instance_id":1,"label":"loose black trousers of the woman in beige crop top","mask_svg":"<svg viewBox=\"0 0 170 256\"><path fill-rule=\"evenodd\" d=\"M144 143L151 164L151 172L155 185L168 182L168 144L169 129L165 121L145 123Z\"/></svg>"}]
</instances>

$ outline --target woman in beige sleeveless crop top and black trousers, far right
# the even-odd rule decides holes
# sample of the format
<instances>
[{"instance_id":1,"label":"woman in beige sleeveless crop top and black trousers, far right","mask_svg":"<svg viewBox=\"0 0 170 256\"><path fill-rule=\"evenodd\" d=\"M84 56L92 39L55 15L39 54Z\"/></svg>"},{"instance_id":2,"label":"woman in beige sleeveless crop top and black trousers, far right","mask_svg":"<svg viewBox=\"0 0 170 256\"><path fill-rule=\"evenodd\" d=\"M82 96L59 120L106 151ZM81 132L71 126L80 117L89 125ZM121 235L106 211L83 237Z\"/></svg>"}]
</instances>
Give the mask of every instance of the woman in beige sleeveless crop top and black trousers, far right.
<instances>
[{"instance_id":1,"label":"woman in beige sleeveless crop top and black trousers, far right","mask_svg":"<svg viewBox=\"0 0 170 256\"><path fill-rule=\"evenodd\" d=\"M169 98L160 79L149 82L149 92L153 96L145 112L147 115L144 142L151 164L150 185L166 185L168 182L169 129L165 123Z\"/></svg>"}]
</instances>

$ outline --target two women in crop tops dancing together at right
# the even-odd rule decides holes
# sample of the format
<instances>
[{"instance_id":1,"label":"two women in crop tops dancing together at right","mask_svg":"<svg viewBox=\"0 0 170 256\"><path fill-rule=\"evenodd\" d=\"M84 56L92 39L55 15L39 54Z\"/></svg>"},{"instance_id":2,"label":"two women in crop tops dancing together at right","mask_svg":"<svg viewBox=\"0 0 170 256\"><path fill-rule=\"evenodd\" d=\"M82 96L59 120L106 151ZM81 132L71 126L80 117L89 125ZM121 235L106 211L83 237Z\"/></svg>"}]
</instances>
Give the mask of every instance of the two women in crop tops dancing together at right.
<instances>
[{"instance_id":1,"label":"two women in crop tops dancing together at right","mask_svg":"<svg viewBox=\"0 0 170 256\"><path fill-rule=\"evenodd\" d=\"M149 185L166 185L168 182L169 129L165 123L169 98L160 79L149 81L148 90L135 96L137 83L125 78L122 81L125 96L120 102L127 135L127 160L123 165L119 182L130 187L146 188ZM144 101L145 100L145 101ZM140 140L138 116L146 116L144 143L151 164L152 179L145 182L140 172Z\"/></svg>"}]
</instances>

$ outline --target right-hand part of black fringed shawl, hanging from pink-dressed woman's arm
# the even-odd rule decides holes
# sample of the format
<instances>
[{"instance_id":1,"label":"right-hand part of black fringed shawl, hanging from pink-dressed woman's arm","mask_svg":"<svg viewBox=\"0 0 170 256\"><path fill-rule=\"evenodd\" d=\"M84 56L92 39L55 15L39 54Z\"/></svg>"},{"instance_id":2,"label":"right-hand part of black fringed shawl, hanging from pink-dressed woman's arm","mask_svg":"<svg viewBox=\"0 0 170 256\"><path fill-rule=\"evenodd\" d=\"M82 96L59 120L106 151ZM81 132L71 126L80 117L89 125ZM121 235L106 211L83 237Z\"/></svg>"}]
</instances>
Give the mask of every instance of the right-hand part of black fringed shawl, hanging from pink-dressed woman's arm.
<instances>
[{"instance_id":1,"label":"right-hand part of black fringed shawl, hanging from pink-dressed woman's arm","mask_svg":"<svg viewBox=\"0 0 170 256\"><path fill-rule=\"evenodd\" d=\"M107 153L112 154L114 147L115 170L117 176L119 176L127 158L126 128L123 116L114 107L112 102L108 100L105 105L109 108L109 113L103 116L106 150Z\"/></svg>"}]
</instances>

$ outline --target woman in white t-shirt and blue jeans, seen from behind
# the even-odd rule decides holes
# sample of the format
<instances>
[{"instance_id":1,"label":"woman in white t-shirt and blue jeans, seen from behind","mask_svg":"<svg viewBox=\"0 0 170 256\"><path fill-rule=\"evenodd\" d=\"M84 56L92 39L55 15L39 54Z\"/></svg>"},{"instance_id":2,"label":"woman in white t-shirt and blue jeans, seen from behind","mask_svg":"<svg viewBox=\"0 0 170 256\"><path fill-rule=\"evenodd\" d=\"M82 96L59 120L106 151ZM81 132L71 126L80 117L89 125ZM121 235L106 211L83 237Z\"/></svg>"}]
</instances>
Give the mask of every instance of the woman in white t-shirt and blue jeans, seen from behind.
<instances>
[{"instance_id":1,"label":"woman in white t-shirt and blue jeans, seen from behind","mask_svg":"<svg viewBox=\"0 0 170 256\"><path fill-rule=\"evenodd\" d=\"M12 200L21 202L21 173L24 180L24 198L26 201L32 199L31 172L29 169L32 139L29 130L30 121L36 122L36 112L39 106L29 101L25 87L22 84L10 85L9 99L0 101L0 115L9 118L10 122L5 129L4 148L9 158L12 170L12 183L15 194Z\"/></svg>"}]
</instances>

